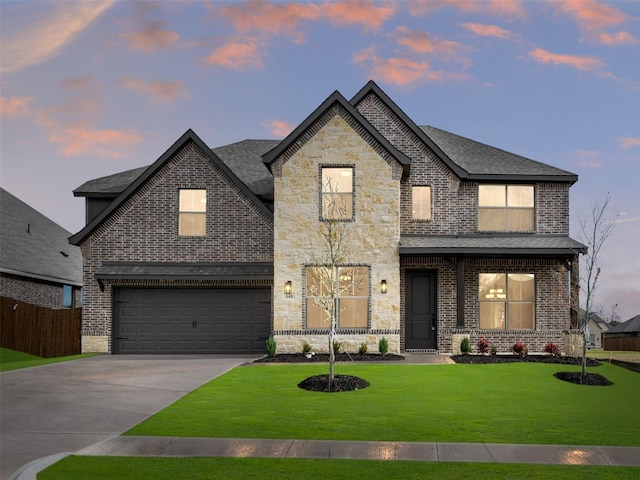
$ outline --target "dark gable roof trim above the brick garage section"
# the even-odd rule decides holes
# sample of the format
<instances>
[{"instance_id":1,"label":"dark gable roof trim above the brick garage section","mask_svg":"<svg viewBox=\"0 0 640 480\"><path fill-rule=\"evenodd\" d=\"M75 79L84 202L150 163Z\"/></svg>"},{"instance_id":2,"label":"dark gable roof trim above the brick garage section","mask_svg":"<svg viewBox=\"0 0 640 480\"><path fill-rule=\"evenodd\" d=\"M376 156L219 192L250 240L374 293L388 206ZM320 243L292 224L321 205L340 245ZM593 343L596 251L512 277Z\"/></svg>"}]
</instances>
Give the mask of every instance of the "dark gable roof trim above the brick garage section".
<instances>
[{"instance_id":1,"label":"dark gable roof trim above the brick garage section","mask_svg":"<svg viewBox=\"0 0 640 480\"><path fill-rule=\"evenodd\" d=\"M115 212L120 205L126 202L142 185L144 185L151 177L153 177L173 156L179 152L188 143L194 142L202 151L205 152L207 158L215 163L240 190L249 197L268 217L273 217L273 213L262 203L249 188L240 181L240 179L227 167L224 162L215 154L204 142L198 137L193 130L187 130L166 152L162 154L153 165L144 170L107 208L105 208L96 218L87 224L80 232L69 238L69 242L74 245L80 245L91 233L93 233L109 215Z\"/></svg>"}]
</instances>

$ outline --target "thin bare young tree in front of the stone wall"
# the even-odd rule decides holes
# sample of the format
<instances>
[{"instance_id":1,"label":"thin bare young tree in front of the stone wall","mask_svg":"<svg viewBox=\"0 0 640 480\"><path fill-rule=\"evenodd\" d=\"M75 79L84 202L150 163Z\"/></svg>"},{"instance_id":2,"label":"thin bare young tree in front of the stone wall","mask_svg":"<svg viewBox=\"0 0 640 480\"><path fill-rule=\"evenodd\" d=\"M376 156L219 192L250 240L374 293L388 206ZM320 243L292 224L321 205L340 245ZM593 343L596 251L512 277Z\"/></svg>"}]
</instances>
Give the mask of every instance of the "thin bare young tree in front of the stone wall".
<instances>
[{"instance_id":1,"label":"thin bare young tree in front of the stone wall","mask_svg":"<svg viewBox=\"0 0 640 480\"><path fill-rule=\"evenodd\" d=\"M324 314L329 325L329 390L334 382L336 329L339 324L341 296L353 291L362 282L358 269L347 266L348 248L345 244L348 206L345 198L338 193L338 185L330 177L323 179L322 216L320 237L322 249L316 258L316 265L310 267L311 278L307 279L309 294Z\"/></svg>"}]
</instances>

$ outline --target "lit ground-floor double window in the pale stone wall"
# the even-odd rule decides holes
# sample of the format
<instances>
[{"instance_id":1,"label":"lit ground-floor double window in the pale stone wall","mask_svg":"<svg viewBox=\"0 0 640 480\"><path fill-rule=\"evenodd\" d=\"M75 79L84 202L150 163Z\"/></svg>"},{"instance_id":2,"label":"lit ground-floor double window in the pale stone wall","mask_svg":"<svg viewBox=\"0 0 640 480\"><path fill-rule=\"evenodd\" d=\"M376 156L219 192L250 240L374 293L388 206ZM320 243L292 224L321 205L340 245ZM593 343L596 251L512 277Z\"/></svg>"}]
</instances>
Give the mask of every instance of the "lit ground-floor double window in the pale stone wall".
<instances>
[{"instance_id":1,"label":"lit ground-floor double window in the pale stone wall","mask_svg":"<svg viewBox=\"0 0 640 480\"><path fill-rule=\"evenodd\" d=\"M369 267L306 267L307 328L366 328L369 318Z\"/></svg>"}]
</instances>

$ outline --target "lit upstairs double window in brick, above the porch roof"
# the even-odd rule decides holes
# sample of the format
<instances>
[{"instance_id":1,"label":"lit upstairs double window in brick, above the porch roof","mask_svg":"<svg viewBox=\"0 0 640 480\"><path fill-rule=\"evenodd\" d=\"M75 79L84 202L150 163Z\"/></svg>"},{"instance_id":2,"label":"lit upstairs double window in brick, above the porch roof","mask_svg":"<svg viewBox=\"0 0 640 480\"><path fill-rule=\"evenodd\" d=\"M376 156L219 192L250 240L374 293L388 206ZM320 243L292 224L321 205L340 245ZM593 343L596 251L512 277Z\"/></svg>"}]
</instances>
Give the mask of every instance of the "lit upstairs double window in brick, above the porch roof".
<instances>
[{"instance_id":1,"label":"lit upstairs double window in brick, above the porch roof","mask_svg":"<svg viewBox=\"0 0 640 480\"><path fill-rule=\"evenodd\" d=\"M480 185L478 230L484 232L533 232L532 185Z\"/></svg>"}]
</instances>

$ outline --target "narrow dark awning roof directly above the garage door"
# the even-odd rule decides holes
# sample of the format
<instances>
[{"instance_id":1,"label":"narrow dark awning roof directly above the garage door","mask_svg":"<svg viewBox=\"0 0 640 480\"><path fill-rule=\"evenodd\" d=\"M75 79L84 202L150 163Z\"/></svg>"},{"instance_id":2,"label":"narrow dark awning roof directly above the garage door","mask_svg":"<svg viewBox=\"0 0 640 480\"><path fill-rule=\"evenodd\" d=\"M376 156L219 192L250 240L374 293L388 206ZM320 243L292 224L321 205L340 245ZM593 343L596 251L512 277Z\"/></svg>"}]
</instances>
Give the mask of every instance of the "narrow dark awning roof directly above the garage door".
<instances>
[{"instance_id":1,"label":"narrow dark awning roof directly above the garage door","mask_svg":"<svg viewBox=\"0 0 640 480\"><path fill-rule=\"evenodd\" d=\"M103 262L98 280L273 280L273 263Z\"/></svg>"}]
</instances>

